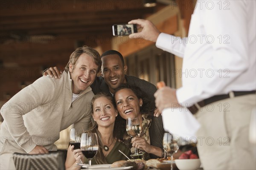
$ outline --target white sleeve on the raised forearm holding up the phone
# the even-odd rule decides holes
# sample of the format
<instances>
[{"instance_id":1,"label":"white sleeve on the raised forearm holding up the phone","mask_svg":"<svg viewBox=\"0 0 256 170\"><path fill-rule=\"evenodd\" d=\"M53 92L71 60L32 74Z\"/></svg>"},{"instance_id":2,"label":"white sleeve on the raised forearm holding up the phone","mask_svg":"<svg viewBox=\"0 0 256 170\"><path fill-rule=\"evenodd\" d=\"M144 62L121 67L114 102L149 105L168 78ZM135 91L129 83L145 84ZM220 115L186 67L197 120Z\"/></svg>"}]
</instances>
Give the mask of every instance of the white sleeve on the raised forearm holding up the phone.
<instances>
[{"instance_id":1,"label":"white sleeve on the raised forearm holding up the phone","mask_svg":"<svg viewBox=\"0 0 256 170\"><path fill-rule=\"evenodd\" d=\"M161 33L157 37L157 48L175 54L178 57L184 56L184 51L187 44L187 37L181 38L170 34Z\"/></svg>"}]
</instances>

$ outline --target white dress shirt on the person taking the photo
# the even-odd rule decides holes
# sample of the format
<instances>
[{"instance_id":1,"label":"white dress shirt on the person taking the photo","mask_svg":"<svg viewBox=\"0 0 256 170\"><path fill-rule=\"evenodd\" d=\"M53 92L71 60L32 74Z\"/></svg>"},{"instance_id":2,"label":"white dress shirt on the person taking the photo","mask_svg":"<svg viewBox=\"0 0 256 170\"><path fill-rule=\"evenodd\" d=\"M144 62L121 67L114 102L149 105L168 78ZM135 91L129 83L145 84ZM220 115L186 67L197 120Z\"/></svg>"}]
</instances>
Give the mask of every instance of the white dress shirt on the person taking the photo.
<instances>
[{"instance_id":1,"label":"white dress shirt on the person taking the photo","mask_svg":"<svg viewBox=\"0 0 256 170\"><path fill-rule=\"evenodd\" d=\"M256 1L198 0L186 38L161 33L156 46L183 57L183 106L256 88ZM177 70L176 70L177 71Z\"/></svg>"}]
</instances>

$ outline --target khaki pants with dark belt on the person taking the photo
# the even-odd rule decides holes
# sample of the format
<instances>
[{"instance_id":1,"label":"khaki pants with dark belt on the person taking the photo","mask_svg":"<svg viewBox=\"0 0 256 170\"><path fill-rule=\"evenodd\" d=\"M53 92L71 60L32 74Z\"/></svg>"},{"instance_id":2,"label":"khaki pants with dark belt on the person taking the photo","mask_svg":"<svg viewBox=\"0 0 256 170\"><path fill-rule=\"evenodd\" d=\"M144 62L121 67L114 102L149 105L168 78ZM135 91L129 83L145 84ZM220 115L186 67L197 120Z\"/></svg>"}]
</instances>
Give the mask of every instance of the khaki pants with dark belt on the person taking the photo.
<instances>
[{"instance_id":1,"label":"khaki pants with dark belt on the person taking the photo","mask_svg":"<svg viewBox=\"0 0 256 170\"><path fill-rule=\"evenodd\" d=\"M249 142L249 123L256 95L224 99L196 113L198 153L204 170L255 170L255 144Z\"/></svg>"}]
</instances>

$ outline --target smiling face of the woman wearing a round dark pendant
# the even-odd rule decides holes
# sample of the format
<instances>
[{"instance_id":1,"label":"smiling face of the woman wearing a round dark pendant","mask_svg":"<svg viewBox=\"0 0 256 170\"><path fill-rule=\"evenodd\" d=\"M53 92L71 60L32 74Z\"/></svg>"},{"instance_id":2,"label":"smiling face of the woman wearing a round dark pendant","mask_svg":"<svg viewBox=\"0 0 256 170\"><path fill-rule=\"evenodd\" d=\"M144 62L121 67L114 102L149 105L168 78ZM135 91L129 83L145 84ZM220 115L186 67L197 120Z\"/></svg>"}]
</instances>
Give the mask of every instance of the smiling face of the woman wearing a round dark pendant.
<instances>
[{"instance_id":1,"label":"smiling face of the woman wearing a round dark pendant","mask_svg":"<svg viewBox=\"0 0 256 170\"><path fill-rule=\"evenodd\" d=\"M102 96L93 102L93 119L99 127L114 125L117 111L110 99Z\"/></svg>"}]
</instances>

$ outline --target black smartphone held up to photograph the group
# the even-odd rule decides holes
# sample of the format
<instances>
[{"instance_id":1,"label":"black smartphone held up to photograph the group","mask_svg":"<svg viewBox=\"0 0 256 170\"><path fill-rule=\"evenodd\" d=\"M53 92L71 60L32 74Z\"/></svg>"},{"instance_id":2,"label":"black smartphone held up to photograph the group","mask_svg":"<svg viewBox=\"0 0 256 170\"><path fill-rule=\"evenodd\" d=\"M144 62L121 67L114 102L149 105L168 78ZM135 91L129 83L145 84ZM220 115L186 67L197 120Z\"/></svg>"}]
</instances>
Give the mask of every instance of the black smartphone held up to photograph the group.
<instances>
[{"instance_id":1,"label":"black smartphone held up to photograph the group","mask_svg":"<svg viewBox=\"0 0 256 170\"><path fill-rule=\"evenodd\" d=\"M112 29L113 36L127 36L138 32L136 24L114 24Z\"/></svg>"}]
</instances>

